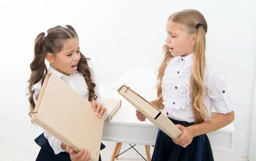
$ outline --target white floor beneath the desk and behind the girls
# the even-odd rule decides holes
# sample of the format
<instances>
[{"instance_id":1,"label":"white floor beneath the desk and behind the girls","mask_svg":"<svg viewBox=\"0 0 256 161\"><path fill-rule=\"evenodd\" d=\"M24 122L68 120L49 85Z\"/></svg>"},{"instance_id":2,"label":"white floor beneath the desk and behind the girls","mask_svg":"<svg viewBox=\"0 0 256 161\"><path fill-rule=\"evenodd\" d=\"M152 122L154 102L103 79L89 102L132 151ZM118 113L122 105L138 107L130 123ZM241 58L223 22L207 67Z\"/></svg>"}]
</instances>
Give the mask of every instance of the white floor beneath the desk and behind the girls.
<instances>
[{"instance_id":1,"label":"white floor beneath the desk and behind the girls","mask_svg":"<svg viewBox=\"0 0 256 161\"><path fill-rule=\"evenodd\" d=\"M140 146L140 147L139 147ZM123 144L121 152L126 150L129 145ZM137 148L138 147L138 148ZM135 146L135 149L143 149L143 146ZM38 145L34 144L12 144L0 143L0 161L35 161L35 158L40 150ZM152 148L151 148L152 155ZM102 161L110 161L113 150L106 149L101 151ZM139 151L146 159L145 151ZM135 150L130 149L119 156L118 161L145 161ZM215 161L248 161L230 159L230 158L215 158Z\"/></svg>"}]
</instances>

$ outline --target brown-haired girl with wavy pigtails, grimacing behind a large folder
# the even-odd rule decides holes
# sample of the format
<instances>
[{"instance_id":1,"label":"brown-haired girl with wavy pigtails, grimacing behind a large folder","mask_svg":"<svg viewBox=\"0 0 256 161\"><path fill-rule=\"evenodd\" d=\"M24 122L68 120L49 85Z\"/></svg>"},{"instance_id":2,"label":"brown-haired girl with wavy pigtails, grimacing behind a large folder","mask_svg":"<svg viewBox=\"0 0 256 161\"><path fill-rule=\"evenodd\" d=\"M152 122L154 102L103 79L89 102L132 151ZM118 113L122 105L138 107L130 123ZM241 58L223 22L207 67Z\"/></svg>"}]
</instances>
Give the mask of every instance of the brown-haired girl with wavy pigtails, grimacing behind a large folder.
<instances>
[{"instance_id":1,"label":"brown-haired girl with wavy pigtails, grimacing behind a large folder","mask_svg":"<svg viewBox=\"0 0 256 161\"><path fill-rule=\"evenodd\" d=\"M45 64L46 59L49 67ZM90 68L89 60L81 53L78 35L72 26L55 26L49 28L47 32L38 34L35 39L34 60L30 64L29 116L31 117L34 112L45 76L54 73L88 99L92 104L92 110L99 118L105 113L106 119L108 111L103 105L97 79ZM35 138L35 142L41 147L36 161L87 161L90 158L90 150L81 149L76 153L46 130ZM101 150L103 148L105 148L104 144L101 145ZM99 161L101 161L100 157Z\"/></svg>"}]
</instances>

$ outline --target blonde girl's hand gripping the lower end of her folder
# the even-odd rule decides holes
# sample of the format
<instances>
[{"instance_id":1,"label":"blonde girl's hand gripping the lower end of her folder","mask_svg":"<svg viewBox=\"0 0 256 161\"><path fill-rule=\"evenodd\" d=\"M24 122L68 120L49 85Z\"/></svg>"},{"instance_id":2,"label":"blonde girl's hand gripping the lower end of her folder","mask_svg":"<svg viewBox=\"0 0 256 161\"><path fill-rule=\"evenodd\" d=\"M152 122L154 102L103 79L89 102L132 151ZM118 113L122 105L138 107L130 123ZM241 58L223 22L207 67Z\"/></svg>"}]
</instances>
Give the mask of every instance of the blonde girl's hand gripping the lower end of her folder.
<instances>
[{"instance_id":1,"label":"blonde girl's hand gripping the lower end of her folder","mask_svg":"<svg viewBox=\"0 0 256 161\"><path fill-rule=\"evenodd\" d=\"M183 134L178 138L172 139L173 142L182 147L188 146L194 137L192 127L184 127L180 124L176 124L176 126L182 131Z\"/></svg>"}]
</instances>

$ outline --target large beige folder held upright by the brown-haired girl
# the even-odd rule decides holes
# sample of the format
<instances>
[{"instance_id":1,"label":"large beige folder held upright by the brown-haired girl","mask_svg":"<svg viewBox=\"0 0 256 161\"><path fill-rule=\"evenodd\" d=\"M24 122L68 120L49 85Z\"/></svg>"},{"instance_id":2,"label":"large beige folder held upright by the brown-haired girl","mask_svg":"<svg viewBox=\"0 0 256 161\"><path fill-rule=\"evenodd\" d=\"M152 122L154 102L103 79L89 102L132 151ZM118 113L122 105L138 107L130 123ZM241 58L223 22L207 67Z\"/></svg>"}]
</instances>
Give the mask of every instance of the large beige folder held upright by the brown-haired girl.
<instances>
[{"instance_id":1,"label":"large beige folder held upright by the brown-haired girl","mask_svg":"<svg viewBox=\"0 0 256 161\"><path fill-rule=\"evenodd\" d=\"M47 74L31 120L67 146L90 150L98 161L104 116L99 119L91 103L53 73Z\"/></svg>"}]
</instances>

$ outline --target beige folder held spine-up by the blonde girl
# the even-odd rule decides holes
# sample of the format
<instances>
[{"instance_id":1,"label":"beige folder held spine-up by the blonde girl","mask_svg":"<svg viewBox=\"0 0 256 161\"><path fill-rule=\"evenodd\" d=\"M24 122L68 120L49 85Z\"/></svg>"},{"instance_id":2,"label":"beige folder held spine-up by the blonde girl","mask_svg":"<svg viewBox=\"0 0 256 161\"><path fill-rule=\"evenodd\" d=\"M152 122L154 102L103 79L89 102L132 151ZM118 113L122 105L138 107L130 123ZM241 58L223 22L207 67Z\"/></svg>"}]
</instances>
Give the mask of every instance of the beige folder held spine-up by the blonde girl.
<instances>
[{"instance_id":1,"label":"beige folder held spine-up by the blonde girl","mask_svg":"<svg viewBox=\"0 0 256 161\"><path fill-rule=\"evenodd\" d=\"M122 85L117 92L120 93L128 102L130 102L131 105L137 108L137 110L139 110L144 116L146 116L149 121L151 121L171 138L178 138L182 135L180 129L176 127L166 115L161 113L157 107L134 92L134 90L128 88L128 86Z\"/></svg>"}]
</instances>

